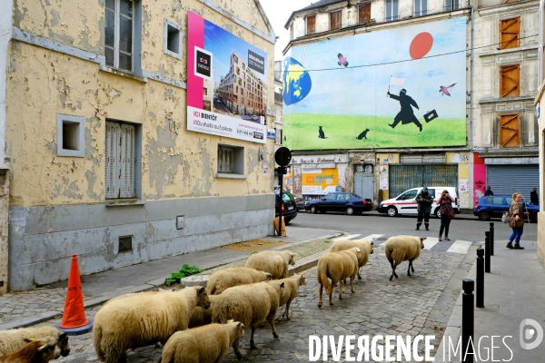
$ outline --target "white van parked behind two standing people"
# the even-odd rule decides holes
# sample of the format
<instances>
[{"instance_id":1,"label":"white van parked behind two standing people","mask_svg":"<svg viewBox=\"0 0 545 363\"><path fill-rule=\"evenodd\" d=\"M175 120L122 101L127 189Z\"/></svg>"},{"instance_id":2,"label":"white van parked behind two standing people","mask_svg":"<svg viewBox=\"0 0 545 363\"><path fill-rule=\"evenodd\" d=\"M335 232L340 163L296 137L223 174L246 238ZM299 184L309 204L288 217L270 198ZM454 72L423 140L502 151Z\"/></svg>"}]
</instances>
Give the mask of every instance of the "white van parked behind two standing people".
<instances>
[{"instance_id":1,"label":"white van parked behind two standing people","mask_svg":"<svg viewBox=\"0 0 545 363\"><path fill-rule=\"evenodd\" d=\"M421 191L420 188L412 188L408 191L403 191L398 197L391 198L386 201L381 201L378 211L386 213L390 217L395 217L398 214L418 214L416 211L417 202L416 195ZM454 187L428 187L428 192L433 196L433 204L431 204L431 214L435 214L438 218L441 218L439 206L437 205L437 199L441 196L442 191L449 191L451 197L454 197L452 203L452 209L456 214L460 213L460 196L458 190Z\"/></svg>"}]
</instances>

